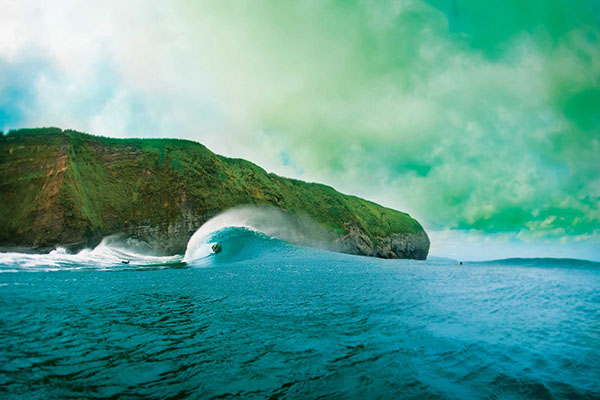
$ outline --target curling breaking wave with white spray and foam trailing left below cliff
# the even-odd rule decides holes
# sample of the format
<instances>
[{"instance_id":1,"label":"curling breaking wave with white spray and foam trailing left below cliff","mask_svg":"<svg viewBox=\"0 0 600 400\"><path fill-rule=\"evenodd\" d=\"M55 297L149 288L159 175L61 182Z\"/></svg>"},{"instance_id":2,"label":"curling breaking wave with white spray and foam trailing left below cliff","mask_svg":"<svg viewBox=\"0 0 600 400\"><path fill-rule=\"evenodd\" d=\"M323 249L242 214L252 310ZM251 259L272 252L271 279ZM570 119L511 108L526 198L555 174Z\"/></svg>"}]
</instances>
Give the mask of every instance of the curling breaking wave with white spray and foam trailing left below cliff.
<instances>
[{"instance_id":1,"label":"curling breaking wave with white spray and foam trailing left below cliff","mask_svg":"<svg viewBox=\"0 0 600 400\"><path fill-rule=\"evenodd\" d=\"M292 251L294 244L335 249L334 237L308 217L273 207L237 207L202 225L190 238L185 255L157 256L152 246L121 235L106 237L94 249L76 254L57 248L48 254L0 253L0 272L69 269L168 268L212 265ZM219 243L222 252L211 246Z\"/></svg>"}]
</instances>

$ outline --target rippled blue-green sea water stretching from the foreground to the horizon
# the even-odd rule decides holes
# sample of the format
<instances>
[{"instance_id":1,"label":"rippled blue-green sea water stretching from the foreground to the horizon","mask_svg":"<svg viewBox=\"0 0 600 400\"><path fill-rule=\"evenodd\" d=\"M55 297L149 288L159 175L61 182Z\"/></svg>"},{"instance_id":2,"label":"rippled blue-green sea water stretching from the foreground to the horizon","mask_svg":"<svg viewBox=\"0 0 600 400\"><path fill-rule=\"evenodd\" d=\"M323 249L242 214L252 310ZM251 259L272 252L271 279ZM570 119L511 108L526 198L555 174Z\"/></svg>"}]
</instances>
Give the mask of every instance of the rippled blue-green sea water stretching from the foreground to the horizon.
<instances>
[{"instance_id":1,"label":"rippled blue-green sea water stretching from the foreground to the horizon","mask_svg":"<svg viewBox=\"0 0 600 400\"><path fill-rule=\"evenodd\" d=\"M600 398L597 263L213 241L191 262L0 254L0 397Z\"/></svg>"}]
</instances>

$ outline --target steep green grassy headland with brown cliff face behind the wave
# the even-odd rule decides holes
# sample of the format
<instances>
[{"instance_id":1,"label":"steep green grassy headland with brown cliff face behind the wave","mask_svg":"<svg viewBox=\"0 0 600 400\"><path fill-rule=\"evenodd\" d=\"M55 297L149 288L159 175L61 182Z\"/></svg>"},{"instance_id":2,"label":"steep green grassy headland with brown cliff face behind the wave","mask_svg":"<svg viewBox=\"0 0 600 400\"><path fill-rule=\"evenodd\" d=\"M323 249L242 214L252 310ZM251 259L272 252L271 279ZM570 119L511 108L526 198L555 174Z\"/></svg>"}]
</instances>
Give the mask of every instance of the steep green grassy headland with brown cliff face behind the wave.
<instances>
[{"instance_id":1,"label":"steep green grassy headland with brown cliff face behind the wave","mask_svg":"<svg viewBox=\"0 0 600 400\"><path fill-rule=\"evenodd\" d=\"M429 239L408 214L316 183L267 173L178 139L112 139L58 128L0 136L0 249L93 247L121 233L162 253L239 205L310 217L340 250L425 259Z\"/></svg>"}]
</instances>

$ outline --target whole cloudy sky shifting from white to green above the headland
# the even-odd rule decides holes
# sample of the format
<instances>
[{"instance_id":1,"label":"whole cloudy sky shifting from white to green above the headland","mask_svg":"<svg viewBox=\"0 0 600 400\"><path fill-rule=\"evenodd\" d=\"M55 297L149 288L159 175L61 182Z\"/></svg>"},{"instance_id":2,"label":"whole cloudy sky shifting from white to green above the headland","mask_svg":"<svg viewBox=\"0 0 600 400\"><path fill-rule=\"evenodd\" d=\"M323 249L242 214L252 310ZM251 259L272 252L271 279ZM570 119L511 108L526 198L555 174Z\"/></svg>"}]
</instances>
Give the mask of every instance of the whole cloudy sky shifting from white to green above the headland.
<instances>
[{"instance_id":1,"label":"whole cloudy sky shifting from white to green above the headland","mask_svg":"<svg viewBox=\"0 0 600 400\"><path fill-rule=\"evenodd\" d=\"M39 126L199 141L437 256L600 260L597 0L0 0L0 130Z\"/></svg>"}]
</instances>

